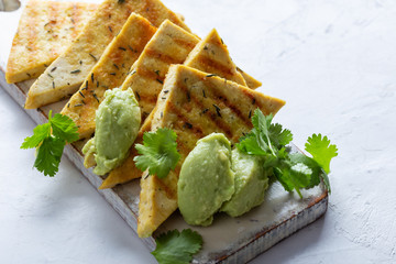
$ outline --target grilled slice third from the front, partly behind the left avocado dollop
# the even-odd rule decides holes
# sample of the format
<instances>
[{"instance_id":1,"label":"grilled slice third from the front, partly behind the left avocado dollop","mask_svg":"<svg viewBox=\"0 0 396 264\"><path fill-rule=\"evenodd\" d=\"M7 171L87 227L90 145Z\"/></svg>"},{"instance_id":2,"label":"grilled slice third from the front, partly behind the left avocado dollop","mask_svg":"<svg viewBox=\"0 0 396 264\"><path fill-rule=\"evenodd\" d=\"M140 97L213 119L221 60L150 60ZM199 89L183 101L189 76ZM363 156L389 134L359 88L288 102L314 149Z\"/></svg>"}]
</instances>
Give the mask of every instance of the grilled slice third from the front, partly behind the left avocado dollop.
<instances>
[{"instance_id":1,"label":"grilled slice third from the front, partly behind the left avocado dollop","mask_svg":"<svg viewBox=\"0 0 396 264\"><path fill-rule=\"evenodd\" d=\"M135 92L143 121L155 107L170 64L183 64L198 42L198 37L166 20L147 43L132 66L131 74L122 84L122 89L132 88ZM147 124L140 131L136 143L141 143L142 138L140 135L145 131L145 127ZM133 162L136 154L134 146L132 146L125 162L111 170L99 188L111 188L117 184L139 178L141 170L135 167Z\"/></svg>"}]
</instances>

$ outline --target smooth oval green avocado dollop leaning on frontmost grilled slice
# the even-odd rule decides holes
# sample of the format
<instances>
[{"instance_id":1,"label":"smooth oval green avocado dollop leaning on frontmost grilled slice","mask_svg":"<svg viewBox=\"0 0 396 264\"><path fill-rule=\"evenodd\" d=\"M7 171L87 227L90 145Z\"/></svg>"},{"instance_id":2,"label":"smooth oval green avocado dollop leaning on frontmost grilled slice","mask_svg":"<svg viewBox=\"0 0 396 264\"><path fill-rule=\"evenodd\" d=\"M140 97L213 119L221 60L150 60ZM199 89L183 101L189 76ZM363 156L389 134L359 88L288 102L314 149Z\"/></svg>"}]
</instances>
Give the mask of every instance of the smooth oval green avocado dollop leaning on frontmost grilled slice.
<instances>
[{"instance_id":1,"label":"smooth oval green avocado dollop leaning on frontmost grilled slice","mask_svg":"<svg viewBox=\"0 0 396 264\"><path fill-rule=\"evenodd\" d=\"M231 144L221 133L197 142L182 165L178 207L187 223L209 226L213 213L234 194Z\"/></svg>"}]
</instances>

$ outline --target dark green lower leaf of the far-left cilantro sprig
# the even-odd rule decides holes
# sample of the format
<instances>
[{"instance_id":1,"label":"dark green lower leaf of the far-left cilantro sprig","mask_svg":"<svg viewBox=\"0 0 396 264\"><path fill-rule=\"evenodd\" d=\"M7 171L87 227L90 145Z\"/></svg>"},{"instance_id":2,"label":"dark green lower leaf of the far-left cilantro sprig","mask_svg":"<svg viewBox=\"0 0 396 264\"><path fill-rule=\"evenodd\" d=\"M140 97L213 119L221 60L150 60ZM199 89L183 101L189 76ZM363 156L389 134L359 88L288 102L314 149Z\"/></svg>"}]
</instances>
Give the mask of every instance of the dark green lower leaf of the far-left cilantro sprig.
<instances>
[{"instance_id":1,"label":"dark green lower leaf of the far-left cilantro sprig","mask_svg":"<svg viewBox=\"0 0 396 264\"><path fill-rule=\"evenodd\" d=\"M54 177L58 172L64 146L64 140L54 136L46 138L37 148L34 167L45 176Z\"/></svg>"}]
</instances>

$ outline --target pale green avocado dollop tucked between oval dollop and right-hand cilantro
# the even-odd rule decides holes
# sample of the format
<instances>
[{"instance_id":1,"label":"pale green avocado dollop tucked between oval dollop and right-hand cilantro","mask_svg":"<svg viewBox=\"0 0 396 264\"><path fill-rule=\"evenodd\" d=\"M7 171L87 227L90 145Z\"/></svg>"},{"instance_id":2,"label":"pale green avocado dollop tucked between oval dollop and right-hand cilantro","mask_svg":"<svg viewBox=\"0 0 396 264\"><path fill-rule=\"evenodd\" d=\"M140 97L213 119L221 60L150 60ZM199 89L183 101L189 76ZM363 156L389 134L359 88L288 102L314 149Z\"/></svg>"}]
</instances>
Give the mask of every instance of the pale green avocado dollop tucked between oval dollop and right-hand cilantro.
<instances>
[{"instance_id":1,"label":"pale green avocado dollop tucked between oval dollop and right-hand cilantro","mask_svg":"<svg viewBox=\"0 0 396 264\"><path fill-rule=\"evenodd\" d=\"M232 151L232 169L235 172L235 193L221 207L221 211L239 217L264 201L268 177L263 168L263 158Z\"/></svg>"}]
</instances>

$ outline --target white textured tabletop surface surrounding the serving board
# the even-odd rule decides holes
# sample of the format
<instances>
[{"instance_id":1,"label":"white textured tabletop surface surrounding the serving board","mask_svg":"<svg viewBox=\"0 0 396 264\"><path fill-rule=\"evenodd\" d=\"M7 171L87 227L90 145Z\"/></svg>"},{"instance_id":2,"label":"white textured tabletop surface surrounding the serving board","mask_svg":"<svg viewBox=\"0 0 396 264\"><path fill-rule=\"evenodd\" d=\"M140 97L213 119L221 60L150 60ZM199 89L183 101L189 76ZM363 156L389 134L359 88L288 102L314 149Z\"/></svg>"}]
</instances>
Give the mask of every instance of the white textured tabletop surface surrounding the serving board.
<instances>
[{"instance_id":1,"label":"white textured tabletop surface surrounding the serving board","mask_svg":"<svg viewBox=\"0 0 396 264\"><path fill-rule=\"evenodd\" d=\"M339 146L324 218L252 263L396 263L396 1L164 0L200 36L216 28L234 62L287 101L276 121L304 147ZM20 11L0 13L4 62ZM35 124L0 89L0 263L155 263L64 158L58 175L19 150Z\"/></svg>"}]
</instances>

